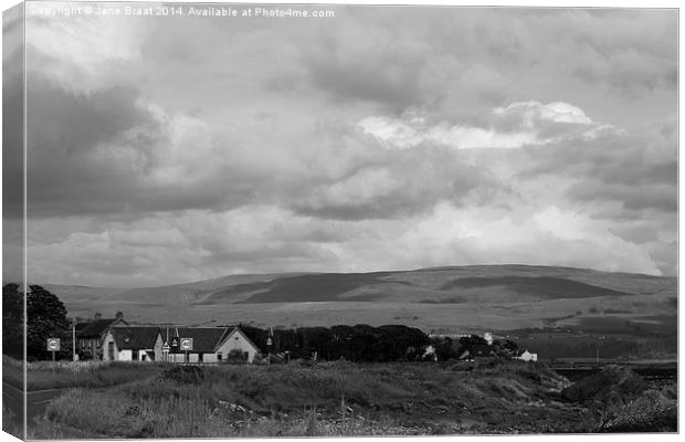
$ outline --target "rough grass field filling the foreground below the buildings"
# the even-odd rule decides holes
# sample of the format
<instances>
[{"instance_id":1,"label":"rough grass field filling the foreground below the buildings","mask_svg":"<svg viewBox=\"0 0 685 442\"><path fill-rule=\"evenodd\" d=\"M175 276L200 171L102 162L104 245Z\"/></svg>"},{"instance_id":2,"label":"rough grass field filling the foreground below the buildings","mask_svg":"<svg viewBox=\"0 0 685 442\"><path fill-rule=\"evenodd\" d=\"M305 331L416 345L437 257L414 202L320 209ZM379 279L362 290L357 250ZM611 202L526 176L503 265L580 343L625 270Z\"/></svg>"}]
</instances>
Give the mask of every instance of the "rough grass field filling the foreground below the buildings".
<instances>
[{"instance_id":1,"label":"rough grass field filling the foreground below the buildings","mask_svg":"<svg viewBox=\"0 0 685 442\"><path fill-rule=\"evenodd\" d=\"M102 376L120 380L114 375L120 369L105 368ZM571 385L566 378L545 365L521 361L481 366L454 361L313 365L297 360L272 366L141 364L136 370L139 372L128 382L65 390L48 406L30 435L584 433L599 431L608 415L621 417L619 406L636 407L625 398L619 402L612 399L611 410L599 402L569 402L561 393ZM661 401L673 409L675 389L668 388L666 397L650 390L639 399L647 404Z\"/></svg>"}]
</instances>

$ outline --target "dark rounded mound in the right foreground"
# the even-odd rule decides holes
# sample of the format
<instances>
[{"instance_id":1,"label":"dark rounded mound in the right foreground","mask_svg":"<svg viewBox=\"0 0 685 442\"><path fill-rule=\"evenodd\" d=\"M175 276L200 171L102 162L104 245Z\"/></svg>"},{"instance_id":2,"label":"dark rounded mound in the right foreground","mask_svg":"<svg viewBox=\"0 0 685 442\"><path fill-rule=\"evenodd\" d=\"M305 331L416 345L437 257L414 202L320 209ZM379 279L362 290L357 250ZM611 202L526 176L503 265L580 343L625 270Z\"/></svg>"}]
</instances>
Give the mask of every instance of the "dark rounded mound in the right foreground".
<instances>
[{"instance_id":1,"label":"dark rounded mound in the right foreground","mask_svg":"<svg viewBox=\"0 0 685 442\"><path fill-rule=\"evenodd\" d=\"M561 396L573 402L605 401L612 397L623 400L635 398L647 385L634 371L619 366L609 366L561 390Z\"/></svg>"}]
</instances>

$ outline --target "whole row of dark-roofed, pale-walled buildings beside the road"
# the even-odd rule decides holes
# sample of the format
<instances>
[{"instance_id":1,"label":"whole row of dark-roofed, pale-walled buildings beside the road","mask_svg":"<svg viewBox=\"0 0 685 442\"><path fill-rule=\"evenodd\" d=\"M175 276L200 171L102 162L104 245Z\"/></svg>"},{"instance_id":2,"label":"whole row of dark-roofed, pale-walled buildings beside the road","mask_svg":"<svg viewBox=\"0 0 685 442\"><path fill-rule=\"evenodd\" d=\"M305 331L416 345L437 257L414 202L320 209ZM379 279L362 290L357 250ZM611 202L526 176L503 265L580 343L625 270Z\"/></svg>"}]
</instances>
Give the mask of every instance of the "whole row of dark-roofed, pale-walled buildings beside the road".
<instances>
[{"instance_id":1,"label":"whole row of dark-roofed, pale-walled buildings beside the road","mask_svg":"<svg viewBox=\"0 0 685 442\"><path fill-rule=\"evenodd\" d=\"M131 326L119 313L76 325L76 352L94 360L252 362L260 349L238 327Z\"/></svg>"}]
</instances>

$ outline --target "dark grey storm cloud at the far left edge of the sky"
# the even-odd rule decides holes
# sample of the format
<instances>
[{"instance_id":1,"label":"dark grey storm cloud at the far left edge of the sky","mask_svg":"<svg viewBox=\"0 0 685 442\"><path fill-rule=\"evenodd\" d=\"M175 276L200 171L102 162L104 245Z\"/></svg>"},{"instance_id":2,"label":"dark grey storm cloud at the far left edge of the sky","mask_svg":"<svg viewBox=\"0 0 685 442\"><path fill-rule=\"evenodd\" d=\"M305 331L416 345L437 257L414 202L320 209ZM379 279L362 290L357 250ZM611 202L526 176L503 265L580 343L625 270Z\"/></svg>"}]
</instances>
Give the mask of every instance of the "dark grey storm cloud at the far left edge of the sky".
<instances>
[{"instance_id":1,"label":"dark grey storm cloud at the far left edge of the sky","mask_svg":"<svg viewBox=\"0 0 685 442\"><path fill-rule=\"evenodd\" d=\"M135 182L146 152L125 164L103 161L97 148L141 122L138 91L108 88L75 95L30 78L28 115L28 199L33 215L117 212L137 198Z\"/></svg>"}]
</instances>

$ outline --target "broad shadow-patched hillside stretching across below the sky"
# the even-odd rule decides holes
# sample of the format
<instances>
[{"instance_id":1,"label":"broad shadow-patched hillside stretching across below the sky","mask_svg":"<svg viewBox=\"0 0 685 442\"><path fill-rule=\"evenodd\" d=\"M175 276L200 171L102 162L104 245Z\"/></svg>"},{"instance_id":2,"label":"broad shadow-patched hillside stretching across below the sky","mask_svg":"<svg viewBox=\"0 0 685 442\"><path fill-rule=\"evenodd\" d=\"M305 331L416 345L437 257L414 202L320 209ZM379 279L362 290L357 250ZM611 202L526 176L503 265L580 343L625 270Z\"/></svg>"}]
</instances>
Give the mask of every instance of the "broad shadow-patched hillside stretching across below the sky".
<instances>
[{"instance_id":1,"label":"broad shadow-patched hillside stretching across below the sky","mask_svg":"<svg viewBox=\"0 0 685 442\"><path fill-rule=\"evenodd\" d=\"M399 323L518 329L630 320L675 329L677 281L582 269L475 265L372 273L231 275L146 288L43 284L73 315L138 323L307 326ZM597 328L597 327L594 327Z\"/></svg>"}]
</instances>

